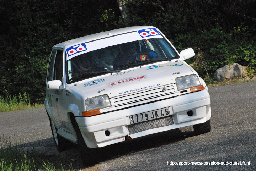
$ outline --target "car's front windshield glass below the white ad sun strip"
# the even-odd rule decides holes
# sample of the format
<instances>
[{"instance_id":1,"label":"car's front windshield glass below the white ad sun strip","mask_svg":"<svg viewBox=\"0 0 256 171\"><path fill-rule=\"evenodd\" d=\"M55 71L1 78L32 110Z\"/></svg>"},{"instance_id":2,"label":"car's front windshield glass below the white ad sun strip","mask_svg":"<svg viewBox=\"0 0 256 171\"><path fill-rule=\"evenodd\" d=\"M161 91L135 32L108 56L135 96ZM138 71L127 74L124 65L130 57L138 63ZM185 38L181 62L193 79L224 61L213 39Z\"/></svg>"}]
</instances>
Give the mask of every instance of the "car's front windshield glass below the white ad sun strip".
<instances>
[{"instance_id":1,"label":"car's front windshield glass below the white ad sun strip","mask_svg":"<svg viewBox=\"0 0 256 171\"><path fill-rule=\"evenodd\" d=\"M163 38L137 40L75 56L67 61L67 82L116 72L127 67L179 58Z\"/></svg>"}]
</instances>

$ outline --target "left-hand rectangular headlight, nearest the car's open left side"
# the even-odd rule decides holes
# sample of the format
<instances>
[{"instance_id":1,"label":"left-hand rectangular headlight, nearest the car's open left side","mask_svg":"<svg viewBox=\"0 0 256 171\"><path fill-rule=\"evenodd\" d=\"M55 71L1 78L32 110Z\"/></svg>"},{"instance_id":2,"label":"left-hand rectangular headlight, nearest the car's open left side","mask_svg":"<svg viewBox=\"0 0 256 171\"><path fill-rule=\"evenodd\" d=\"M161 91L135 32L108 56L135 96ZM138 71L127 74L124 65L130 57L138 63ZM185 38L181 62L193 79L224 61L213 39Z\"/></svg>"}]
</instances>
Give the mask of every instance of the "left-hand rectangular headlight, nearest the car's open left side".
<instances>
[{"instance_id":1,"label":"left-hand rectangular headlight, nearest the car's open left side","mask_svg":"<svg viewBox=\"0 0 256 171\"><path fill-rule=\"evenodd\" d=\"M110 107L110 100L107 95L97 96L85 100L87 111Z\"/></svg>"}]
</instances>

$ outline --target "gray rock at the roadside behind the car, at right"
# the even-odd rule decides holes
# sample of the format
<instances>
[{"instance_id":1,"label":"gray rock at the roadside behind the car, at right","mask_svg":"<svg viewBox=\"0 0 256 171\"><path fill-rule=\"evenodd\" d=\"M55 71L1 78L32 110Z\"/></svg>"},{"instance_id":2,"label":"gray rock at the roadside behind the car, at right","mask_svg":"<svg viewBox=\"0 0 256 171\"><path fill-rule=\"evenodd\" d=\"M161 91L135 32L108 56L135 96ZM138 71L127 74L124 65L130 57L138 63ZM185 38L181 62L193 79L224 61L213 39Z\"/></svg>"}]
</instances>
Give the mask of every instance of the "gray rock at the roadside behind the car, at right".
<instances>
[{"instance_id":1,"label":"gray rock at the roadside behind the car, at right","mask_svg":"<svg viewBox=\"0 0 256 171\"><path fill-rule=\"evenodd\" d=\"M246 73L246 67L234 63L230 66L225 65L224 67L216 70L216 72L214 73L214 77L217 79L217 81L225 81L234 78L240 78L246 75Z\"/></svg>"}]
</instances>

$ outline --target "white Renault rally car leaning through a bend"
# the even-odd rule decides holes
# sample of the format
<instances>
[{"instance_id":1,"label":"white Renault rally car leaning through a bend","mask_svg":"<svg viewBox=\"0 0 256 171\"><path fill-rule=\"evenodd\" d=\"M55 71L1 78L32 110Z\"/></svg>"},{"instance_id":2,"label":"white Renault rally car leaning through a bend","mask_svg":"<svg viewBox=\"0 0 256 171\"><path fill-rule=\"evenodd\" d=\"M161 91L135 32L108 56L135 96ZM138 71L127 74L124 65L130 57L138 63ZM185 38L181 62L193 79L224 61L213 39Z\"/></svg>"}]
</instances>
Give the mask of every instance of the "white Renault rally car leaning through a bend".
<instances>
[{"instance_id":1,"label":"white Renault rally car leaning through a bend","mask_svg":"<svg viewBox=\"0 0 256 171\"><path fill-rule=\"evenodd\" d=\"M53 46L45 108L59 150L93 148L193 125L210 131L205 82L157 28L137 26L80 37ZM93 149L96 150L96 149Z\"/></svg>"}]
</instances>

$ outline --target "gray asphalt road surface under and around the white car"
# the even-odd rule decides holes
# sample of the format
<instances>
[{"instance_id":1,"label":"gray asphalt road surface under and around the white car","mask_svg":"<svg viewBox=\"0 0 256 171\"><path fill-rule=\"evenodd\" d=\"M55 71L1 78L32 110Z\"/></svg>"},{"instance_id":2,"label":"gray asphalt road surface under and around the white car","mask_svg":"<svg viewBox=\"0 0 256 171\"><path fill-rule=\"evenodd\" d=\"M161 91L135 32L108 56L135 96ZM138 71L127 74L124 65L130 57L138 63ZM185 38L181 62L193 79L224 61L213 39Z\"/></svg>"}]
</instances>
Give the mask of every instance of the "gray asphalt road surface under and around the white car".
<instances>
[{"instance_id":1,"label":"gray asphalt road surface under and around the white car","mask_svg":"<svg viewBox=\"0 0 256 171\"><path fill-rule=\"evenodd\" d=\"M256 170L256 82L209 88L212 131L193 127L111 145L101 150L95 170ZM86 169L79 149L59 153L44 108L0 113L0 135L37 147L74 169ZM54 161L54 160L53 160ZM192 163L194 162L194 163Z\"/></svg>"}]
</instances>

